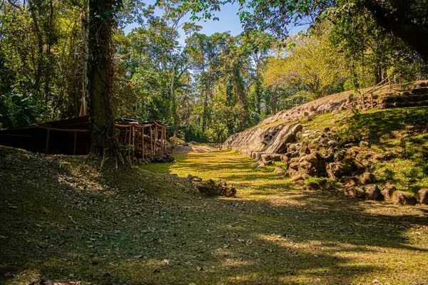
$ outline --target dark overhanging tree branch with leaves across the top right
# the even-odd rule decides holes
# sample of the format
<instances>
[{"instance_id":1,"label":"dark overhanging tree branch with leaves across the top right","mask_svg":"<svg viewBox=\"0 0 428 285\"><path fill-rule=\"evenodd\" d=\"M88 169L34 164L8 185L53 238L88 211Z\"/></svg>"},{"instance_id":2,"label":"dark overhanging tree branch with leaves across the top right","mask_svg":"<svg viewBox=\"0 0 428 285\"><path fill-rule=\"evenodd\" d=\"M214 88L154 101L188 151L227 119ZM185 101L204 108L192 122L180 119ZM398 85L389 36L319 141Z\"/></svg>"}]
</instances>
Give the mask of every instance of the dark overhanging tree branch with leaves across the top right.
<instances>
[{"instance_id":1,"label":"dark overhanging tree branch with leaves across the top right","mask_svg":"<svg viewBox=\"0 0 428 285\"><path fill-rule=\"evenodd\" d=\"M234 0L186 0L193 18L211 19L220 5ZM290 26L314 24L330 12L342 9L367 9L377 24L412 46L428 61L428 1L420 0L243 0L240 19L246 29L269 30L277 36L287 36Z\"/></svg>"}]
</instances>

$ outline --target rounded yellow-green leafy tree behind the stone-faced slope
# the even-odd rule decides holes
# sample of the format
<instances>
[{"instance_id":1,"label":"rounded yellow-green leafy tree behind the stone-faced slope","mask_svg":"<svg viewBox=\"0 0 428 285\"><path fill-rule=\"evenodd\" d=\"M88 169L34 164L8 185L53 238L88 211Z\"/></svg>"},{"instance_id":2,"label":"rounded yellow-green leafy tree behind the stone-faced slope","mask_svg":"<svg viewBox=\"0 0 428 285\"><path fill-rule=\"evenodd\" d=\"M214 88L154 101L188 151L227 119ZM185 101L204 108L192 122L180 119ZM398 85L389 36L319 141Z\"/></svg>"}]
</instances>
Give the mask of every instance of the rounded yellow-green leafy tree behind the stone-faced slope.
<instances>
[{"instance_id":1,"label":"rounded yellow-green leafy tree behind the stone-faced slope","mask_svg":"<svg viewBox=\"0 0 428 285\"><path fill-rule=\"evenodd\" d=\"M321 98L341 90L347 78L347 66L341 53L329 41L330 25L319 25L312 36L299 34L289 38L290 48L280 49L270 58L265 71L269 88L295 86L297 94L308 100Z\"/></svg>"}]
</instances>

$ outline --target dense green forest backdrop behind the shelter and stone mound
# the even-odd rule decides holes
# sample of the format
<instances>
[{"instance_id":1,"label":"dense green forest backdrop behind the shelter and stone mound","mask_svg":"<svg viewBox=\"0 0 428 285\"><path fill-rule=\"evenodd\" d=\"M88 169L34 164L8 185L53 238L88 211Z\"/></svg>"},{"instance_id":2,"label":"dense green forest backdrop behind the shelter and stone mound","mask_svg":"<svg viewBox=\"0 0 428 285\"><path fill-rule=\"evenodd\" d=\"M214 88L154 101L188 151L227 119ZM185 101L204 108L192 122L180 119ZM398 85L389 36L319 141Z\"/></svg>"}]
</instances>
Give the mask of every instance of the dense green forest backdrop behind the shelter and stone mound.
<instances>
[{"instance_id":1,"label":"dense green forest backdrop behind the shelter and stone mound","mask_svg":"<svg viewBox=\"0 0 428 285\"><path fill-rule=\"evenodd\" d=\"M81 114L92 90L89 2L0 1L0 128ZM427 40L426 1L239 1L238 36L185 20L214 19L233 1L113 2L113 117L159 120L188 141L223 141L308 100L428 73L400 30Z\"/></svg>"}]
</instances>

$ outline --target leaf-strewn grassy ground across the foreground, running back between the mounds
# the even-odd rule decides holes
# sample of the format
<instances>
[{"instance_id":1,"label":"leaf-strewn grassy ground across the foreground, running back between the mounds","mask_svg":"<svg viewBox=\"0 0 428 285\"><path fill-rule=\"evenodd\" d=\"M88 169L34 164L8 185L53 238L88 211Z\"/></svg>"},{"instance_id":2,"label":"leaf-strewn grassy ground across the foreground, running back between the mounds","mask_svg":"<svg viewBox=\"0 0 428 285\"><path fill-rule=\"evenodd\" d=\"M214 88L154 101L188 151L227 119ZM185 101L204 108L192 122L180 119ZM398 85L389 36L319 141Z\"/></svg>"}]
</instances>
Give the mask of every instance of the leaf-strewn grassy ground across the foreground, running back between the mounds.
<instances>
[{"instance_id":1,"label":"leaf-strewn grassy ground across the foreground, running back between the mounds","mask_svg":"<svg viewBox=\"0 0 428 285\"><path fill-rule=\"evenodd\" d=\"M295 190L233 151L101 172L0 147L0 281L31 284L420 284L427 207ZM158 173L156 173L158 172ZM178 177L162 173L175 174ZM224 179L236 198L188 190Z\"/></svg>"}]
</instances>

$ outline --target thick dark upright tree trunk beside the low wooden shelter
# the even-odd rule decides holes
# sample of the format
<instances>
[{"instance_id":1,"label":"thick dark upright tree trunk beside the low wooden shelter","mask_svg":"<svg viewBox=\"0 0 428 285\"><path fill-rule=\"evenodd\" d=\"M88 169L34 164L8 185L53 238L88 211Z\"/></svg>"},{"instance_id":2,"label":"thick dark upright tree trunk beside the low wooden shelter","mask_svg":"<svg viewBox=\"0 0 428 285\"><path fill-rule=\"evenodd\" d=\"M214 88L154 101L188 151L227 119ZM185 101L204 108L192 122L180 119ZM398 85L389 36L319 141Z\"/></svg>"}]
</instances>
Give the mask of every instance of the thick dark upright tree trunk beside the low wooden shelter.
<instances>
[{"instance_id":1,"label":"thick dark upright tree trunk beside the low wooden shelter","mask_svg":"<svg viewBox=\"0 0 428 285\"><path fill-rule=\"evenodd\" d=\"M88 98L91 123L91 155L121 159L114 130L112 36L115 0L89 1Z\"/></svg>"}]
</instances>

